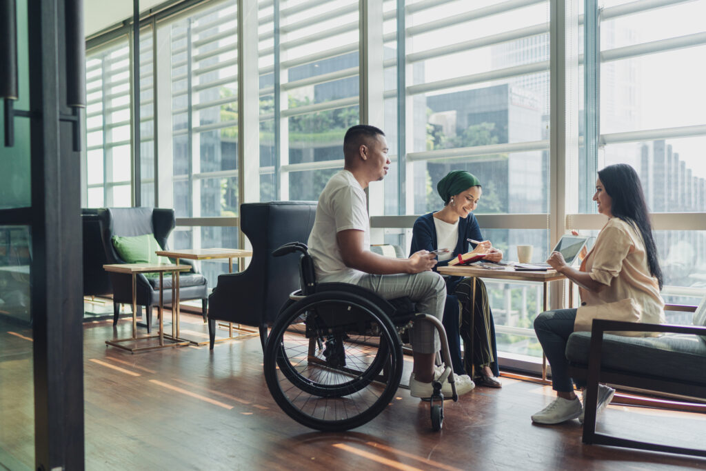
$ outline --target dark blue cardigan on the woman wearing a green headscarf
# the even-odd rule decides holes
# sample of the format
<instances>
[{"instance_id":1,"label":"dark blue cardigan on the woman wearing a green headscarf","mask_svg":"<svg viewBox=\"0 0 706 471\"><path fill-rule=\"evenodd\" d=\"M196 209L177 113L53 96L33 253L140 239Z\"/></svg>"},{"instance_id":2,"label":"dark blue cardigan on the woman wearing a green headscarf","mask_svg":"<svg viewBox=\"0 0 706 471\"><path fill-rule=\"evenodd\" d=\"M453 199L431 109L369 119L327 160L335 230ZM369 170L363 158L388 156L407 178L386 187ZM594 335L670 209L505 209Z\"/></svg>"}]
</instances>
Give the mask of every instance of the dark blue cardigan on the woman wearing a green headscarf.
<instances>
[{"instance_id":1,"label":"dark blue cardigan on the woman wearing a green headscarf","mask_svg":"<svg viewBox=\"0 0 706 471\"><path fill-rule=\"evenodd\" d=\"M469 246L474 247L475 244L466 242L466 239L483 240L483 234L481 234L481 228L478 225L478 220L473 213L469 214L465 219L460 217L458 220L458 240L456 246L453 250L453 256L458 256L458 254L465 254ZM414 252L420 250L436 250L436 226L434 225L433 213L425 214L423 216L417 217L414 221L414 227L412 228L412 247L409 249L409 255L411 256ZM442 247L443 249L444 247ZM449 258L445 261L440 261L436 264L436 267L447 266L448 262L451 260ZM436 271L434 267L434 271ZM446 290L449 294L453 293L456 285L463 277L452 276L446 282Z\"/></svg>"}]
</instances>

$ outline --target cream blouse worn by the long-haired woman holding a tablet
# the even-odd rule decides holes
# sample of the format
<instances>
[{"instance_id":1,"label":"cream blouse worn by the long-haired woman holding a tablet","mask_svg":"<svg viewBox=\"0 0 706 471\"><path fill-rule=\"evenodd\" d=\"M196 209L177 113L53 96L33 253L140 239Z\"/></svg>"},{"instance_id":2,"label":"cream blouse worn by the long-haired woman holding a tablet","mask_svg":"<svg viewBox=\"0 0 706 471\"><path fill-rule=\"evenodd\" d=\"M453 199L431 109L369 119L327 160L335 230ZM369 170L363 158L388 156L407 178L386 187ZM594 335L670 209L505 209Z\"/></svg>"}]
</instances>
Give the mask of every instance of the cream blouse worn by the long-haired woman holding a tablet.
<instances>
[{"instance_id":1,"label":"cream blouse worn by the long-haired woman holding a tablet","mask_svg":"<svg viewBox=\"0 0 706 471\"><path fill-rule=\"evenodd\" d=\"M633 298L642 306L640 322L664 323L664 300L657 278L650 274L642 236L630 223L611 217L599 232L581 271L607 287L601 292L579 288L587 306Z\"/></svg>"}]
</instances>

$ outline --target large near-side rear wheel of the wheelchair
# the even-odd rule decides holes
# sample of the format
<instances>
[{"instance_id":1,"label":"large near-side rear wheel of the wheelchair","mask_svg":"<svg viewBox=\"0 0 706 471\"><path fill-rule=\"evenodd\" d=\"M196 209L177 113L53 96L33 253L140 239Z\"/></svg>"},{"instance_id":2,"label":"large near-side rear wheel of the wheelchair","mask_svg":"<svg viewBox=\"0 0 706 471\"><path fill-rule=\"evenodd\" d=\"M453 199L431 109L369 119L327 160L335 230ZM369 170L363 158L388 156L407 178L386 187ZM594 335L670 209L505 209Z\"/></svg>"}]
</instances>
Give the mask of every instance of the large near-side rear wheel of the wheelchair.
<instances>
[{"instance_id":1,"label":"large near-side rear wheel of the wheelchair","mask_svg":"<svg viewBox=\"0 0 706 471\"><path fill-rule=\"evenodd\" d=\"M277 319L264 368L289 417L313 429L347 430L376 417L395 395L402 345L390 319L366 299L315 293Z\"/></svg>"}]
</instances>

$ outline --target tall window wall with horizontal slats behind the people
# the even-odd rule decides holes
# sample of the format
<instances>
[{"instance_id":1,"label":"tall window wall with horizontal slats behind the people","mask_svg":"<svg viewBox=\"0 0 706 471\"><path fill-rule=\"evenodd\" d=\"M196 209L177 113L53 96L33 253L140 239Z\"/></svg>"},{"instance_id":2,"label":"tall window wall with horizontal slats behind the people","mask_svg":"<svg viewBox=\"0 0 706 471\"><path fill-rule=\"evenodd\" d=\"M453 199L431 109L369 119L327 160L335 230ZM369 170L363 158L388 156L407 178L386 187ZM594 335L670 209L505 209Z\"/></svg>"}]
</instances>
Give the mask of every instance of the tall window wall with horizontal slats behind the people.
<instances>
[{"instance_id":1,"label":"tall window wall with horizontal slats behind the people","mask_svg":"<svg viewBox=\"0 0 706 471\"><path fill-rule=\"evenodd\" d=\"M239 30L241 4L249 20L256 8L258 28L243 44L253 23ZM695 304L706 291L706 0L365 6L204 0L145 20L140 199L175 208L175 247L237 247L240 198L255 184L260 201L316 200L342 167L345 130L370 117L392 160L369 187L373 243L407 250L414 218L441 208L439 179L466 169L483 184L484 238L510 260L532 244L539 261L569 229L597 233L605 220L591 201L595 172L627 162L653 212L663 295ZM87 61L91 205L130 203L132 44L114 36ZM253 80L257 118L238 97ZM258 155L239 155L244 129L258 129ZM258 181L239 181L251 162ZM212 286L225 271L202 268ZM541 290L487 285L501 356L537 362ZM566 297L552 292L555 305Z\"/></svg>"}]
</instances>

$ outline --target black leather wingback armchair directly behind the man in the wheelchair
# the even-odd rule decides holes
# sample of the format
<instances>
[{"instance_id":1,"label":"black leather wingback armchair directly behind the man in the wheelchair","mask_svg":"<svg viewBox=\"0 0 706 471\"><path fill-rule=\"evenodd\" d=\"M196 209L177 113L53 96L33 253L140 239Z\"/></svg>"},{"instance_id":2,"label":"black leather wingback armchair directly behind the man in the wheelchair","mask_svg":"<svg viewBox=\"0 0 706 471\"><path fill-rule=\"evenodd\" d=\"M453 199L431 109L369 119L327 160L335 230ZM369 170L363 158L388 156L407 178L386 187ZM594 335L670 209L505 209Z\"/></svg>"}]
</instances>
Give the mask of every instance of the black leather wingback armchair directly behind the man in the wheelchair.
<instances>
[{"instance_id":1,"label":"black leather wingback armchair directly behind the man in the wheelchair","mask_svg":"<svg viewBox=\"0 0 706 471\"><path fill-rule=\"evenodd\" d=\"M306 244L316 217L316 201L273 201L240 206L240 228L253 246L253 258L241 273L218 277L208 298L210 348L215 321L240 323L260 329L265 345L268 324L273 323L289 293L299 288L299 260L273 257L287 242Z\"/></svg>"}]
</instances>

